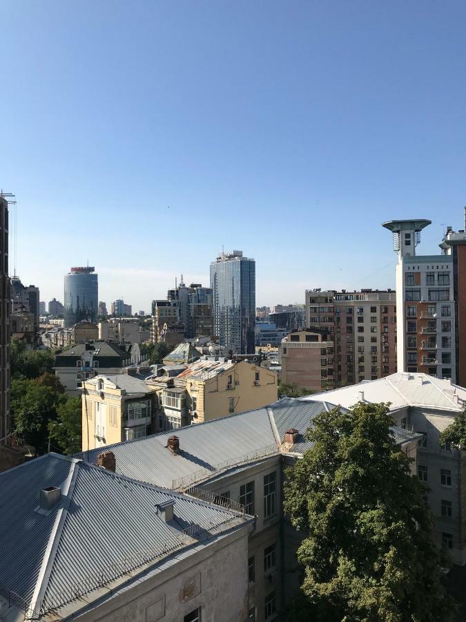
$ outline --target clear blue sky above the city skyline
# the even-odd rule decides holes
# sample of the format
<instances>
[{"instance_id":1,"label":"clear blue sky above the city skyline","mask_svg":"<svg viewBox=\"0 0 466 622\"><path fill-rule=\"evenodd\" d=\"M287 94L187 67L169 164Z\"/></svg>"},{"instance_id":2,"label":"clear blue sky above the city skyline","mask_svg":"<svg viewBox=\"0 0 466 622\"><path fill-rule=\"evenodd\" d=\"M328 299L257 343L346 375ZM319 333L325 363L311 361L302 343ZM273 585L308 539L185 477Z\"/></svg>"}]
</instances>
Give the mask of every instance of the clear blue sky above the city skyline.
<instances>
[{"instance_id":1,"label":"clear blue sky above the city skyline","mask_svg":"<svg viewBox=\"0 0 466 622\"><path fill-rule=\"evenodd\" d=\"M148 310L224 245L257 303L394 286L380 227L463 228L466 3L0 2L0 187L17 273ZM171 206L168 209L168 205Z\"/></svg>"}]
</instances>

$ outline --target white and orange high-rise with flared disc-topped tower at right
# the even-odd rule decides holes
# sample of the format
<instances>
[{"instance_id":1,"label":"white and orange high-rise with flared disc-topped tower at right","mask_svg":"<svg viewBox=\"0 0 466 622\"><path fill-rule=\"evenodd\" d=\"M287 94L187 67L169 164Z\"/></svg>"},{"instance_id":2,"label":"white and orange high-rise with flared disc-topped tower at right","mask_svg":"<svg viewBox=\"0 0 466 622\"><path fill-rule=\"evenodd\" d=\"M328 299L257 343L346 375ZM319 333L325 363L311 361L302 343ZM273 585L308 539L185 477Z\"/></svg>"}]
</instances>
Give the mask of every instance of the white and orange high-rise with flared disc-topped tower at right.
<instances>
[{"instance_id":1,"label":"white and orange high-rise with flared disc-topped tower at right","mask_svg":"<svg viewBox=\"0 0 466 622\"><path fill-rule=\"evenodd\" d=\"M447 228L443 254L416 255L430 220L390 220L398 253L398 371L466 384L466 234Z\"/></svg>"}]
</instances>

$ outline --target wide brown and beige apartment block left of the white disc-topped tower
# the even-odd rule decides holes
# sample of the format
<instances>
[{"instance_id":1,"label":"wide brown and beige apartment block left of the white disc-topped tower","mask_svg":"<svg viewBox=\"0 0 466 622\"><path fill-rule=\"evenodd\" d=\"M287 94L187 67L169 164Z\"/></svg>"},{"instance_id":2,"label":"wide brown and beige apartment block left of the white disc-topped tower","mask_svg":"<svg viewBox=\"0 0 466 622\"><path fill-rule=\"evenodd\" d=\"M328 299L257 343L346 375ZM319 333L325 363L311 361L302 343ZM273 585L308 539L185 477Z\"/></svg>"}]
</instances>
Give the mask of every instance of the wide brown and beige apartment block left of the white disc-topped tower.
<instances>
[{"instance_id":1,"label":"wide brown and beige apartment block left of the white disc-topped tower","mask_svg":"<svg viewBox=\"0 0 466 622\"><path fill-rule=\"evenodd\" d=\"M306 325L333 340L333 376L325 386L374 380L396 371L396 292L306 291Z\"/></svg>"}]
</instances>

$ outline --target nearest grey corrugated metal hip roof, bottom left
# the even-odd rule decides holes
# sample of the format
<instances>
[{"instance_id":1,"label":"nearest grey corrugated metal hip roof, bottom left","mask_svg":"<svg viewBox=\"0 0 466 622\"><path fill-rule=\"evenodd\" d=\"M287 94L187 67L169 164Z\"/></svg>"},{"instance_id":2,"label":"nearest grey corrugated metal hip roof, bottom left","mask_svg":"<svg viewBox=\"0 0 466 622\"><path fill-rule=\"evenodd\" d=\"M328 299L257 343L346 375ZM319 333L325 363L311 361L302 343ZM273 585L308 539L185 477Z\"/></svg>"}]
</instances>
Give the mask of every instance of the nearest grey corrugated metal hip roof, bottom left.
<instances>
[{"instance_id":1,"label":"nearest grey corrugated metal hip roof, bottom left","mask_svg":"<svg viewBox=\"0 0 466 622\"><path fill-rule=\"evenodd\" d=\"M50 486L61 488L61 500L38 513L39 491ZM156 509L167 500L175 501L168 523ZM39 618L110 597L105 586L137 581L173 552L252 520L56 454L0 473L0 515L0 596L15 592L15 604Z\"/></svg>"}]
</instances>

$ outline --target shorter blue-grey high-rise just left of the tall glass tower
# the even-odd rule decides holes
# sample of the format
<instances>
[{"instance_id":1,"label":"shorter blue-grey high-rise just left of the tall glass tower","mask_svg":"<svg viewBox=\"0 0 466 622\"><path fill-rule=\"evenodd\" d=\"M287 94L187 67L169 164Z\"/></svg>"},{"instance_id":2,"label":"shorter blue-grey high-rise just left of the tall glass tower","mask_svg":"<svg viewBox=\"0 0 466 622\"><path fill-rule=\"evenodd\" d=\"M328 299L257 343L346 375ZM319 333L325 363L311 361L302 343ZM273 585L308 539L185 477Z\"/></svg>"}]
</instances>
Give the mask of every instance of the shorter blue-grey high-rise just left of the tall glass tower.
<instances>
[{"instance_id":1,"label":"shorter blue-grey high-rise just left of the tall glass tower","mask_svg":"<svg viewBox=\"0 0 466 622\"><path fill-rule=\"evenodd\" d=\"M182 275L179 285L168 290L167 299L179 302L179 321L184 325L188 339L200 335L213 337L212 288L203 288L201 283L186 287Z\"/></svg>"}]
</instances>

